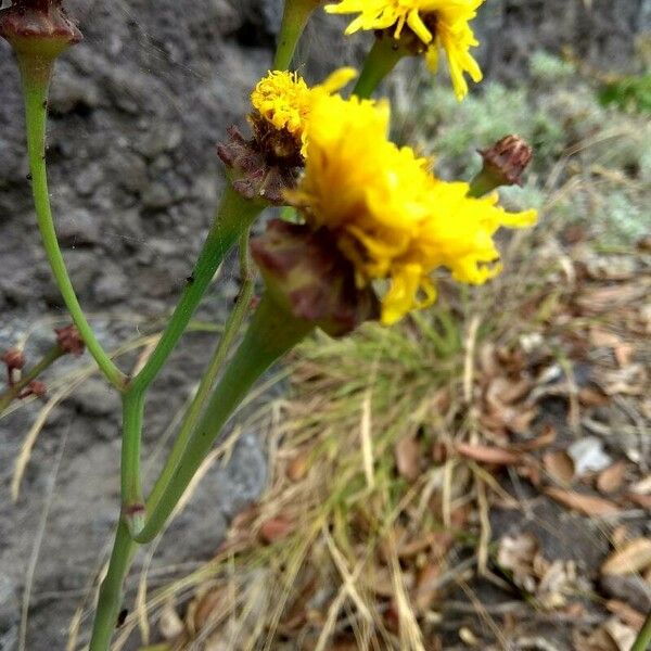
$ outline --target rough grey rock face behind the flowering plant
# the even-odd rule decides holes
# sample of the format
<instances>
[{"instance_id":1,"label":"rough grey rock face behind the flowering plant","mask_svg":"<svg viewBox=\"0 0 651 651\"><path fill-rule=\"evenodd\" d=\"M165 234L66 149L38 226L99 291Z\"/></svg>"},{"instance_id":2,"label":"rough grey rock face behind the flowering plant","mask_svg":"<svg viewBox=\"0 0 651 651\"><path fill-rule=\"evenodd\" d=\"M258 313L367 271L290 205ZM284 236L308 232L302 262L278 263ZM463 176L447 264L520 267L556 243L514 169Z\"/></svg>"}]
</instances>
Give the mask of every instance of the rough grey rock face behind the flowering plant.
<instances>
[{"instance_id":1,"label":"rough grey rock face behind the flowering plant","mask_svg":"<svg viewBox=\"0 0 651 651\"><path fill-rule=\"evenodd\" d=\"M651 3L589 4L490 2L480 25L486 71L513 80L532 49L564 44L596 63L626 66L634 36L649 26ZM270 65L280 5L279 0L197 0L191 8L176 0L69 2L86 38L61 61L52 88L52 201L79 297L106 346L149 331L174 305L222 184L215 143L231 123L243 122L251 87ZM334 34L333 23L322 18L310 27L315 78L331 67L328 60L355 58L354 46L342 47L339 38L336 55L330 54ZM48 344L51 320L65 322L65 312L38 244L18 81L5 43L0 85L0 349L29 332L26 352L36 357ZM202 318L219 322L237 288L229 267ZM148 449L187 397L212 339L188 336L156 383L148 405ZM25 647L35 651L64 648L117 515L119 409L95 376L53 410L12 502L13 464L38 407L27 405L0 421L0 649L7 651L17 643L41 527ZM169 532L159 566L209 556L229 518L264 488L265 469L256 433L247 433Z\"/></svg>"}]
</instances>

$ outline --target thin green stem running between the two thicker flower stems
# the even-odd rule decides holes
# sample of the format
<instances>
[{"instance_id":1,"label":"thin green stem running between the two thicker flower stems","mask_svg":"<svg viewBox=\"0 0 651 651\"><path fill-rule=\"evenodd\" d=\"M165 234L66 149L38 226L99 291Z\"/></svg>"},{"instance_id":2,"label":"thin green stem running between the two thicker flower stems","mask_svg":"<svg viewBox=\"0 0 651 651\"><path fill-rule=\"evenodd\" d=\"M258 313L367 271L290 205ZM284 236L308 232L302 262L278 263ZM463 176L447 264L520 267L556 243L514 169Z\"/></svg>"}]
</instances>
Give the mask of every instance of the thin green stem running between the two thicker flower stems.
<instances>
[{"instance_id":1,"label":"thin green stem running between the two thicker flower stems","mask_svg":"<svg viewBox=\"0 0 651 651\"><path fill-rule=\"evenodd\" d=\"M171 481L181 455L186 450L190 435L192 434L199 417L203 411L204 405L208 399L217 374L224 366L228 352L230 350L237 334L242 329L242 324L246 314L248 312L254 291L254 276L252 273L251 261L248 257L248 232L245 232L240 239L240 276L243 279L243 282L238 296L238 302L228 317L224 332L219 343L217 344L217 348L215 349L208 367L201 379L196 394L194 395L194 398L192 399L192 403L190 404L190 407L183 417L179 434L174 443L169 456L167 457L165 467L161 471L158 480L156 481L148 499L149 510L154 510L158 506L161 497Z\"/></svg>"}]
</instances>

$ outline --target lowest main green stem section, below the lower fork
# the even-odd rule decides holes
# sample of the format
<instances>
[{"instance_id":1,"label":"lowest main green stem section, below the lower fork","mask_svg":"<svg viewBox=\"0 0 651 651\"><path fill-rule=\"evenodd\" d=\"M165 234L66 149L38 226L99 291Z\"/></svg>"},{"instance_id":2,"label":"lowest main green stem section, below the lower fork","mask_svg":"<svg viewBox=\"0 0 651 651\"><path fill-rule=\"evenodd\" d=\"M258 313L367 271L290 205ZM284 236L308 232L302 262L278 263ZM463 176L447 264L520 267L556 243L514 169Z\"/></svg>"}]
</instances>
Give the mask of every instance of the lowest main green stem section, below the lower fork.
<instances>
[{"instance_id":1,"label":"lowest main green stem section, below the lower fork","mask_svg":"<svg viewBox=\"0 0 651 651\"><path fill-rule=\"evenodd\" d=\"M100 587L89 651L108 651L123 603L123 586L137 550L138 545L131 540L127 525L120 521L115 533L108 571Z\"/></svg>"}]
</instances>

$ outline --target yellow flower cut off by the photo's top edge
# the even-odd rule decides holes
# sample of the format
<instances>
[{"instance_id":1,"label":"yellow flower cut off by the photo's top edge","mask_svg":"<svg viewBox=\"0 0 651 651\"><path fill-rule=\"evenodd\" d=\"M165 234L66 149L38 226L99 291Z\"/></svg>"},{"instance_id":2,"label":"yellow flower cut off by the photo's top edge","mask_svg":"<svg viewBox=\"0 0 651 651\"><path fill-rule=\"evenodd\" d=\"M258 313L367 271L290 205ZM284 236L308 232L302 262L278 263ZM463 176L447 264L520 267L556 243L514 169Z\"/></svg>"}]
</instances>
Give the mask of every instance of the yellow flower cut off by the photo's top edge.
<instances>
[{"instance_id":1,"label":"yellow flower cut off by the photo's top edge","mask_svg":"<svg viewBox=\"0 0 651 651\"><path fill-rule=\"evenodd\" d=\"M329 13L359 15L348 25L346 34L358 29L390 29L400 38L410 29L426 49L426 61L434 72L438 53L447 56L452 86L459 100L468 94L464 73L473 81L482 80L482 71L470 54L478 46L469 22L476 16L484 0L340 0L326 5Z\"/></svg>"}]
</instances>

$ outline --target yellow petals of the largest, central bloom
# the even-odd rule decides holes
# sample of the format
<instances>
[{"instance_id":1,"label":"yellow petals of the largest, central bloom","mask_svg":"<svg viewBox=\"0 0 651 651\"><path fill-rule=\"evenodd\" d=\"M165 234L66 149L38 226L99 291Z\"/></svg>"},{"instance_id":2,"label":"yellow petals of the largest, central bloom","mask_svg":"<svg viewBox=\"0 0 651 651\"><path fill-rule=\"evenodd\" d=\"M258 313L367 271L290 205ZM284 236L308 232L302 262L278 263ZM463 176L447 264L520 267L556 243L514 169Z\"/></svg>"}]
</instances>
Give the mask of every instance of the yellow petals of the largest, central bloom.
<instances>
[{"instance_id":1,"label":"yellow petals of the largest, central bloom","mask_svg":"<svg viewBox=\"0 0 651 651\"><path fill-rule=\"evenodd\" d=\"M386 103L321 95L311 108L304 176L286 194L316 230L330 230L354 264L358 286L386 279L382 321L431 305L432 271L445 267L465 283L499 272L493 235L500 226L536 220L535 210L507 213L497 194L468 196L445 182L410 148L387 140Z\"/></svg>"}]
</instances>

